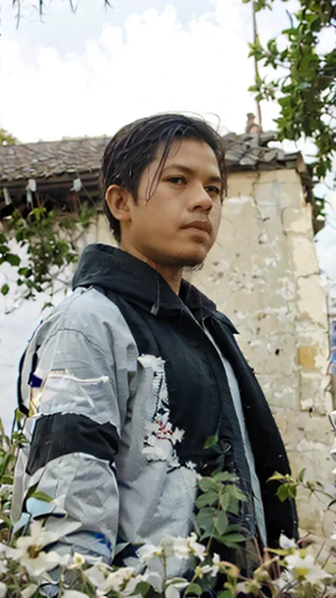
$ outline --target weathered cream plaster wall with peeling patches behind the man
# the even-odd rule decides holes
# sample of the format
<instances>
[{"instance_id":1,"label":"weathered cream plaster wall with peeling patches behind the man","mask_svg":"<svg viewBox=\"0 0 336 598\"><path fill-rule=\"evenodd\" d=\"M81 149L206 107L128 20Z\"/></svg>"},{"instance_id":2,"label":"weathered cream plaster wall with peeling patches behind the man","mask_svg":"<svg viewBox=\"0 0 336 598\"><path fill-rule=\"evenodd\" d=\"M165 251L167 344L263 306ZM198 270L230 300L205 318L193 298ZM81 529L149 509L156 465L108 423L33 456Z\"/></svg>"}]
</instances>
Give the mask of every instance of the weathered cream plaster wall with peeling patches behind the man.
<instances>
[{"instance_id":1,"label":"weathered cream plaster wall with peeling patches behind the man","mask_svg":"<svg viewBox=\"0 0 336 598\"><path fill-rule=\"evenodd\" d=\"M112 241L103 216L84 239L95 241ZM230 175L218 241L193 282L239 329L238 341L281 428L293 470L306 467L308 479L332 482L326 298L318 272L310 206L297 173ZM60 289L56 301L62 297ZM45 297L6 316L11 297L0 301L0 414L9 427L18 359ZM299 502L302 527L321 535L321 504ZM330 533L332 523L325 524Z\"/></svg>"}]
</instances>

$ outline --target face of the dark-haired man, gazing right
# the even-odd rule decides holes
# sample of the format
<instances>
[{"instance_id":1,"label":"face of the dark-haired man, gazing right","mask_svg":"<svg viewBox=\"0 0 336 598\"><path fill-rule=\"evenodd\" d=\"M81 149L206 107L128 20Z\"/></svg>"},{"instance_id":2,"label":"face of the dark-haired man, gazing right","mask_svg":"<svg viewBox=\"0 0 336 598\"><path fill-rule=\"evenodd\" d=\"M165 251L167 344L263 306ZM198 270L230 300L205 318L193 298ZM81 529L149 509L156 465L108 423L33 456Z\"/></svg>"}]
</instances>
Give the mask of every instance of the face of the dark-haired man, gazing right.
<instances>
[{"instance_id":1,"label":"face of the dark-haired man, gazing right","mask_svg":"<svg viewBox=\"0 0 336 598\"><path fill-rule=\"evenodd\" d=\"M196 266L206 258L220 224L223 182L218 161L203 141L175 140L157 181L161 155L162 148L142 174L121 248L131 245L162 266Z\"/></svg>"}]
</instances>

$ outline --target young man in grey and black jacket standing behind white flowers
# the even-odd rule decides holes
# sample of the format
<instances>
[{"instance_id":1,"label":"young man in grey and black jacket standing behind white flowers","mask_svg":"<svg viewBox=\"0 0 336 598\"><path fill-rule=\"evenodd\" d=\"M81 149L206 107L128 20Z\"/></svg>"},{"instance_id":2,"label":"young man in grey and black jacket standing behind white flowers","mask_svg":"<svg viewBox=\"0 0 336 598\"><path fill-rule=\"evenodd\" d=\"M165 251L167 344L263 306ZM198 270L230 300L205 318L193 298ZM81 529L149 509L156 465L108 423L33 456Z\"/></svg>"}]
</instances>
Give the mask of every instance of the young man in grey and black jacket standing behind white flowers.
<instances>
[{"instance_id":1,"label":"young man in grey and black jacket standing behind white flowers","mask_svg":"<svg viewBox=\"0 0 336 598\"><path fill-rule=\"evenodd\" d=\"M54 529L67 513L77 529L60 552L127 563L142 543L193 530L197 475L220 463L248 497L236 517L248 570L247 546L296 536L297 523L293 502L267 483L289 463L237 331L182 277L218 233L222 140L189 116L144 118L108 143L101 179L119 248L84 250L74 293L23 359L29 443L16 467L16 527L51 510ZM34 485L56 499L52 509L26 499Z\"/></svg>"}]
</instances>

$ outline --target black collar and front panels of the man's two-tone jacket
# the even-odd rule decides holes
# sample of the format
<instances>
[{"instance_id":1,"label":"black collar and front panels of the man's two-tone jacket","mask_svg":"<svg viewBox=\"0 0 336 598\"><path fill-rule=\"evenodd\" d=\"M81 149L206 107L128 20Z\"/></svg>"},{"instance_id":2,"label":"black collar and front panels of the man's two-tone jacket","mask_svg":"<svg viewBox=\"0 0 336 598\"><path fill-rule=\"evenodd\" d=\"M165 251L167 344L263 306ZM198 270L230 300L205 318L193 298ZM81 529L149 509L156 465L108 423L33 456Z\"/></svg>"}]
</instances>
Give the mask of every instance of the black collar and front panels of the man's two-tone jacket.
<instances>
[{"instance_id":1,"label":"black collar and front panels of the man's two-tone jacket","mask_svg":"<svg viewBox=\"0 0 336 598\"><path fill-rule=\"evenodd\" d=\"M242 477L243 489L249 492L237 419L223 363L203 331L204 326L208 328L239 384L262 491L268 546L276 546L281 532L296 537L295 504L291 500L279 502L277 483L268 482L274 472L291 472L284 443L254 372L237 345L233 323L192 284L183 280L177 297L152 267L106 245L90 245L82 253L73 287L91 286L106 294L121 311L139 354L164 360L171 422L185 431L177 445L179 461L192 461L204 471L211 460L204 443L219 432L221 440L233 446L234 466Z\"/></svg>"}]
</instances>

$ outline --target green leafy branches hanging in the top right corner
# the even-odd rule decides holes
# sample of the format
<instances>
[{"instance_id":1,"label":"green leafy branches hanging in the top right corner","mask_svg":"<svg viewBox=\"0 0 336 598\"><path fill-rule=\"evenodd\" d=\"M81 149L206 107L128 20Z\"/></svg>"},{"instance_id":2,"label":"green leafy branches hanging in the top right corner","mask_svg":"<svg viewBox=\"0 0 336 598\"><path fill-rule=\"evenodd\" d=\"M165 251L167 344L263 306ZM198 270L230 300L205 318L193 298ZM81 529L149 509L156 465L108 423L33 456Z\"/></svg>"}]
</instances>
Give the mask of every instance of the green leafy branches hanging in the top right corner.
<instances>
[{"instance_id":1,"label":"green leafy branches hanging in the top right corner","mask_svg":"<svg viewBox=\"0 0 336 598\"><path fill-rule=\"evenodd\" d=\"M254 0L254 9L271 9L273 2ZM280 140L313 140L316 156L310 170L320 180L332 170L336 156L336 48L334 44L326 52L320 45L321 34L331 30L335 35L336 1L299 3L296 13L288 13L289 26L279 39L270 39L264 46L257 37L256 43L250 44L250 56L262 67L285 71L278 77L274 73L271 80L257 76L250 91L259 101L275 99L279 103L276 125Z\"/></svg>"}]
</instances>

